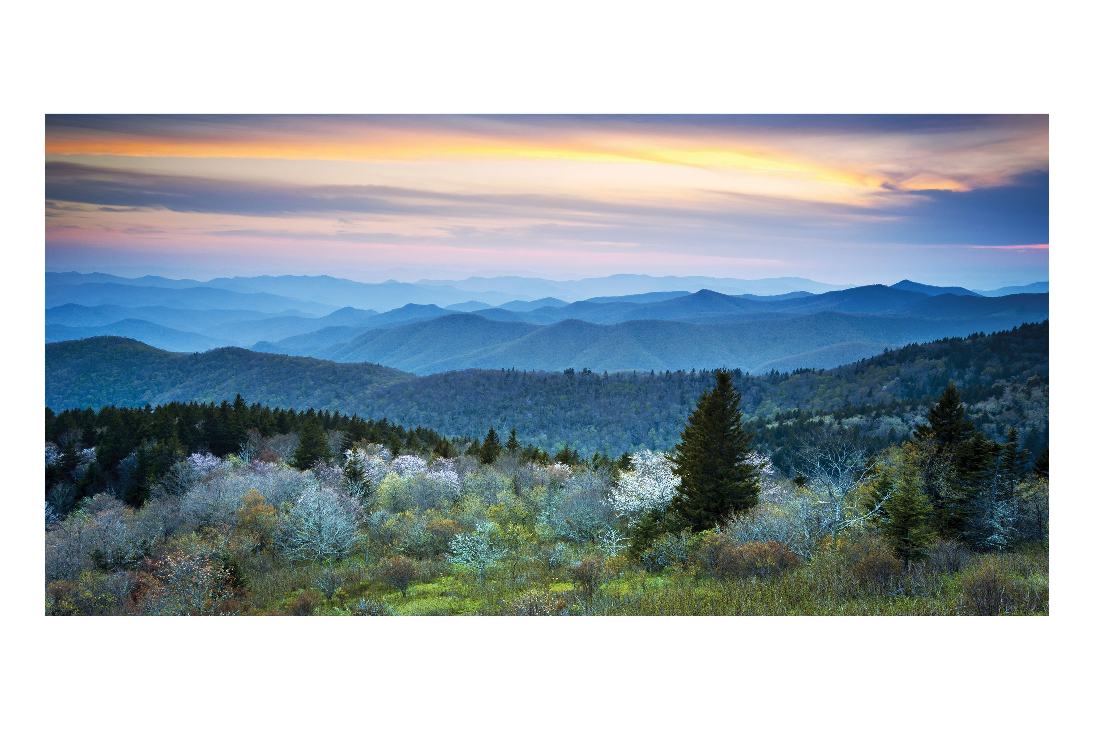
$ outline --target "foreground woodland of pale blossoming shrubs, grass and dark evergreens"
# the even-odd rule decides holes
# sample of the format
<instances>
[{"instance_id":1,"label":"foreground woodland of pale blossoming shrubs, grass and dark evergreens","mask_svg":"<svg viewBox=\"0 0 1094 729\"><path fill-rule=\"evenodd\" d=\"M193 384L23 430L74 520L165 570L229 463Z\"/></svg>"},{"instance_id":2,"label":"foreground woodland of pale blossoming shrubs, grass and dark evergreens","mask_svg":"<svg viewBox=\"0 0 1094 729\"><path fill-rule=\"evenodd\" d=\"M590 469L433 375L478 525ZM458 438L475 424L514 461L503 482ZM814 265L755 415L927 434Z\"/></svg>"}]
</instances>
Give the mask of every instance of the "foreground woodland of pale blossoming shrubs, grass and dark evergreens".
<instances>
[{"instance_id":1,"label":"foreground woodland of pale blossoming shrubs, grass and dark evergreens","mask_svg":"<svg viewBox=\"0 0 1094 729\"><path fill-rule=\"evenodd\" d=\"M1028 364L980 339L936 344L966 373ZM671 451L615 459L238 395L47 410L45 610L1047 613L1047 448L990 437L955 381L882 447L850 409L895 398L757 431L749 379L710 379Z\"/></svg>"}]
</instances>

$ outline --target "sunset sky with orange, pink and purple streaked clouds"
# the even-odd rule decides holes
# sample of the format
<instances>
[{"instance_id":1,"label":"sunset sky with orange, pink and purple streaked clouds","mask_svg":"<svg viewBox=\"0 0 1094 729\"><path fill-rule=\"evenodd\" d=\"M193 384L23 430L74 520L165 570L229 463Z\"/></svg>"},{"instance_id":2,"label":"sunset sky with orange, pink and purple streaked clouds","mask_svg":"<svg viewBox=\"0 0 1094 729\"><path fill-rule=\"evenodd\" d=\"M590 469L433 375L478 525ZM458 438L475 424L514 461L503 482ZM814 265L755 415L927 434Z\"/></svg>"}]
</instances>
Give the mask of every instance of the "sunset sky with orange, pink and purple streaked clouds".
<instances>
[{"instance_id":1,"label":"sunset sky with orange, pink and purple streaked clouds","mask_svg":"<svg viewBox=\"0 0 1094 729\"><path fill-rule=\"evenodd\" d=\"M1048 280L1047 115L47 115L47 270Z\"/></svg>"}]
</instances>

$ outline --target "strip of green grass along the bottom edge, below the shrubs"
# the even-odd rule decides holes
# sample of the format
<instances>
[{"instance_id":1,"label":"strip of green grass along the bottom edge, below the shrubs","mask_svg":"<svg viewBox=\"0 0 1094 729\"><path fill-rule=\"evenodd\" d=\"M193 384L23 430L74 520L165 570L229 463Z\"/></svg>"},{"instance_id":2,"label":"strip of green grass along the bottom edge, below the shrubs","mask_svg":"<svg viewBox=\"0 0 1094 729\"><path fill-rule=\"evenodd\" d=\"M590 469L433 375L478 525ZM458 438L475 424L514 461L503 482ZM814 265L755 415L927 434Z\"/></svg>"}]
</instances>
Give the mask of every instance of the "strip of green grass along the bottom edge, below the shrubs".
<instances>
[{"instance_id":1,"label":"strip of green grass along the bottom edge, below the shrubs","mask_svg":"<svg viewBox=\"0 0 1094 729\"><path fill-rule=\"evenodd\" d=\"M335 568L346 577L341 590L317 601L314 614L347 614L362 598L385 602L399 615L505 614L511 601L532 590L567 601L569 614L610 615L955 615L974 612L970 585L984 574L998 575L1008 614L1047 614L1048 551L975 555L959 572L913 565L883 583L860 579L840 554L768 578L718 579L702 571L668 568L644 572L618 557L614 579L603 583L587 604L578 599L565 568L533 562L497 567L481 583L474 574L443 563L423 563L423 578L404 597L379 577L375 564L347 560ZM309 591L322 569L315 565L272 566L252 580L253 613L284 612L295 596ZM621 574L620 574L621 573ZM997 581L998 581L997 580Z\"/></svg>"}]
</instances>

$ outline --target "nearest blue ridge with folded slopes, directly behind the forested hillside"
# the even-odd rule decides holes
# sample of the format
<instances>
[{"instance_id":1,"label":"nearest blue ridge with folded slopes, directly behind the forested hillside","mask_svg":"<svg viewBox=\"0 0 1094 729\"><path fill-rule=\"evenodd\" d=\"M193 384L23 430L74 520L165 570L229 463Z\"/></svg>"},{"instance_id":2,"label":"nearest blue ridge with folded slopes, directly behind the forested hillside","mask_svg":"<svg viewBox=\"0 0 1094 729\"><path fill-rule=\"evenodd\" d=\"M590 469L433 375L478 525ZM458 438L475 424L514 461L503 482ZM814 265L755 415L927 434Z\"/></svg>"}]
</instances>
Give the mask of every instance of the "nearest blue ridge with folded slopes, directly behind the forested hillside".
<instances>
[{"instance_id":1,"label":"nearest blue ridge with folded slopes, directly behind the forested hillside","mask_svg":"<svg viewBox=\"0 0 1094 729\"><path fill-rule=\"evenodd\" d=\"M337 362L379 362L416 374L450 369L508 368L596 372L740 367L800 356L800 366L831 366L833 345L880 348L1009 329L1027 320L986 315L959 319L819 311L782 319L729 324L635 319L595 325L579 319L536 326L493 321L476 314L373 329L353 340L314 350L313 356ZM815 360L805 353L815 352ZM861 356L861 355L860 355Z\"/></svg>"}]
</instances>

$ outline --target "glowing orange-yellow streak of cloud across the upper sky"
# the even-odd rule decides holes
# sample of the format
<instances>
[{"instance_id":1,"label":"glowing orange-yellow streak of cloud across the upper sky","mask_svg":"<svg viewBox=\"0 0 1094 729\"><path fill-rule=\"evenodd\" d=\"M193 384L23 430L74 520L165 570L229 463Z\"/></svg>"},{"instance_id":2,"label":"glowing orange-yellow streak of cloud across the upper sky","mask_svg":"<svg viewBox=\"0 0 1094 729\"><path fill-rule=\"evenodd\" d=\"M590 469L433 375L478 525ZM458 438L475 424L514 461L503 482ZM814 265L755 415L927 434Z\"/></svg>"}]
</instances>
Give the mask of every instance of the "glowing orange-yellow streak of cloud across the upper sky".
<instances>
[{"instance_id":1,"label":"glowing orange-yellow streak of cloud across the upper sky","mask_svg":"<svg viewBox=\"0 0 1094 729\"><path fill-rule=\"evenodd\" d=\"M784 149L780 140L757 143L733 139L680 139L677 136L607 136L602 131L566 139L542 132L539 137L485 139L481 136L447 130L376 130L347 134L331 140L316 134L263 138L258 132L248 141L235 139L161 139L107 134L70 136L49 133L46 154L49 156L115 155L130 157L197 157L234 160L342 161L373 164L517 164L522 160L546 160L570 163L595 163L607 166L643 165L652 168L631 171L638 186L649 185L641 178L656 178L656 169L687 166L706 169L737 179L733 191L749 193L748 178L755 180L756 192L790 199L871 204L872 193L892 190L951 190L965 192L985 184L998 184L1010 171L1000 174L991 169L993 156L1006 156L1009 149L985 152L982 158L956 160L955 172L966 179L936 169L916 171L907 160L893 164L893 141L873 140L864 149L842 149L842 144L823 140L799 143L813 149ZM868 140L869 141L869 140ZM794 146L794 145L790 145ZM871 149L874 148L874 149ZM905 152L906 154L906 152ZM866 157L866 160L859 157ZM938 165L934 155L924 154L919 162ZM967 156L967 155L966 155ZM869 161L870 157L875 157ZM965 163L965 164L962 164ZM953 164L953 163L952 163ZM1028 166L1028 165L1025 165ZM895 167L895 168L894 168ZM489 175L487 176L489 177ZM465 178L466 179L466 178ZM475 180L468 180L474 184ZM579 185L587 179L575 179ZM712 184L718 188L720 185Z\"/></svg>"}]
</instances>

